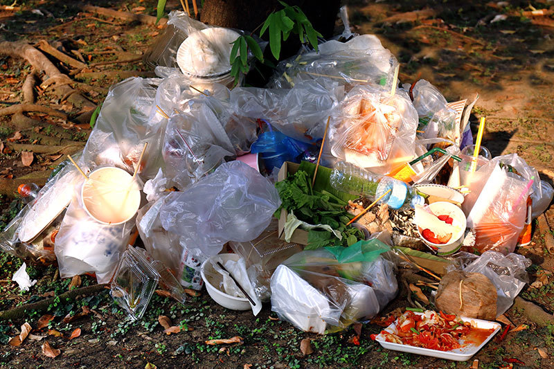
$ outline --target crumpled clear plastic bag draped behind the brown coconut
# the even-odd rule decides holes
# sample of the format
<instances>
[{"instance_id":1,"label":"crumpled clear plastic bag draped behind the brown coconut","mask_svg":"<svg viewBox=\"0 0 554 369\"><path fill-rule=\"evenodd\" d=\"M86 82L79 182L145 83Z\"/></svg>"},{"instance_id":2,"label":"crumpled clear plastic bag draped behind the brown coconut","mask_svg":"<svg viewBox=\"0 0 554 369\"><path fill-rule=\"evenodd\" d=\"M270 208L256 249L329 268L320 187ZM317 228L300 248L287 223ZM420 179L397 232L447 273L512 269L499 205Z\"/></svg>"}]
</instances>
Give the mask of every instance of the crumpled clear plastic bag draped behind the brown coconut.
<instances>
[{"instance_id":1,"label":"crumpled clear plastic bag draped behind the brown coconut","mask_svg":"<svg viewBox=\"0 0 554 369\"><path fill-rule=\"evenodd\" d=\"M523 255L509 253L502 255L496 251L486 251L481 256L472 253L459 253L446 271L481 273L497 289L497 317L508 310L525 284L529 282L526 269L531 261Z\"/></svg>"}]
</instances>

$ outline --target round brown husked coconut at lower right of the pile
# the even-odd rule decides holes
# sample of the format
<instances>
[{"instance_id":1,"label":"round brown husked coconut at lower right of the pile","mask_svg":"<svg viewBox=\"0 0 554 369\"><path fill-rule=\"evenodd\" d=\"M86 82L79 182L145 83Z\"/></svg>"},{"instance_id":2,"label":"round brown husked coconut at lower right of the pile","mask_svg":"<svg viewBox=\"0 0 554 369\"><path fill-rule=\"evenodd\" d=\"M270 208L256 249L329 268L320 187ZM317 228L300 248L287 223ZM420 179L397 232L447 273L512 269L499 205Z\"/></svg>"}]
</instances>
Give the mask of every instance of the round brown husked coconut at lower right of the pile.
<instances>
[{"instance_id":1,"label":"round brown husked coconut at lower right of the pile","mask_svg":"<svg viewBox=\"0 0 554 369\"><path fill-rule=\"evenodd\" d=\"M435 305L446 314L494 320L497 317L497 289L481 273L450 271L440 280Z\"/></svg>"}]
</instances>

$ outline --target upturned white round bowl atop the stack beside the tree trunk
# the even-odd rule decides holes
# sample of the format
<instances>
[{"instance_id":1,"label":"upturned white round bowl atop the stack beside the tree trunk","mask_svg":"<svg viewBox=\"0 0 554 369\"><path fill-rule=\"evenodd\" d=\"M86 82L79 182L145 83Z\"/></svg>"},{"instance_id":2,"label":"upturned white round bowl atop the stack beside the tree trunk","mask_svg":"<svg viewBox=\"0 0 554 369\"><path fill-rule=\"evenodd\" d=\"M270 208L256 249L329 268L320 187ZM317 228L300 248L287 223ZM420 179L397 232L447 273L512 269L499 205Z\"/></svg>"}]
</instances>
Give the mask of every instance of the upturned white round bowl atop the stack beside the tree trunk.
<instances>
[{"instance_id":1,"label":"upturned white round bowl atop the stack beside the tree trunk","mask_svg":"<svg viewBox=\"0 0 554 369\"><path fill-rule=\"evenodd\" d=\"M229 28L205 28L191 33L177 50L177 64L185 75L216 78L231 71L232 43L240 36Z\"/></svg>"}]
</instances>

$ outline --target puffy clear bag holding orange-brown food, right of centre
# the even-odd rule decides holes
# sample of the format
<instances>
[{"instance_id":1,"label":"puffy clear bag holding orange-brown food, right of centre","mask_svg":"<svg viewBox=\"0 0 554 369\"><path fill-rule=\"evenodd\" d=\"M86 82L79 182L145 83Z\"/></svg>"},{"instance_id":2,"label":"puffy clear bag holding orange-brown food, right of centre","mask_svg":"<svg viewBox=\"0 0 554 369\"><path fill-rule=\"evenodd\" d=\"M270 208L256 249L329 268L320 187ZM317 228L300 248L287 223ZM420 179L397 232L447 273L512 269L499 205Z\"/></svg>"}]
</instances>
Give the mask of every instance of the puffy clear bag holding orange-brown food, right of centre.
<instances>
[{"instance_id":1,"label":"puffy clear bag holding orange-brown food, right of centre","mask_svg":"<svg viewBox=\"0 0 554 369\"><path fill-rule=\"evenodd\" d=\"M332 137L337 158L377 174L410 161L415 156L418 115L402 91L359 86L342 102L342 118Z\"/></svg>"}]
</instances>

